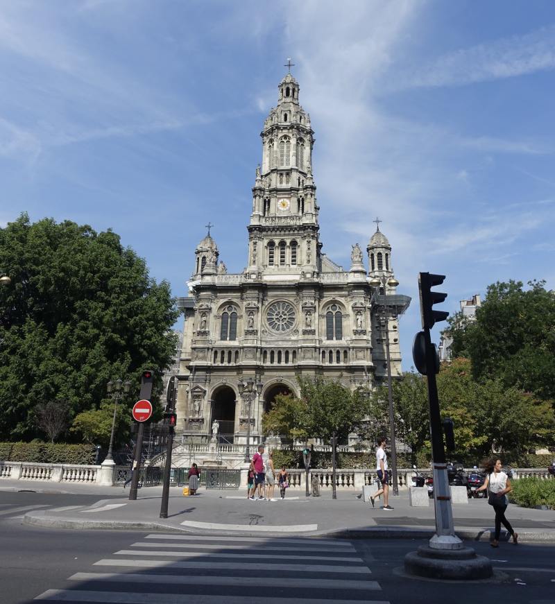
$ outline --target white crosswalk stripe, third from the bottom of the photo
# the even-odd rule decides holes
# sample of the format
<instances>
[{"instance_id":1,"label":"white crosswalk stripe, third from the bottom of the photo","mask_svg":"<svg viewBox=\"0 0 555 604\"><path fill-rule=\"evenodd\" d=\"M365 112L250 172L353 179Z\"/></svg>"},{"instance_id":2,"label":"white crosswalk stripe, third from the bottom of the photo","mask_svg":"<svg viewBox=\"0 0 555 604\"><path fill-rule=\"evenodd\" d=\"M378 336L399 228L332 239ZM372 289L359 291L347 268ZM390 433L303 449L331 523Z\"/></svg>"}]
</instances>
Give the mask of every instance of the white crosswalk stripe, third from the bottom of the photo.
<instances>
[{"instance_id":1,"label":"white crosswalk stripe, third from the bottom of the photo","mask_svg":"<svg viewBox=\"0 0 555 604\"><path fill-rule=\"evenodd\" d=\"M246 565L242 562L170 562L168 560L114 560L104 558L94 562L94 566L99 567L132 567L132 568L160 568L169 569L219 569L219 570L244 570ZM272 564L268 562L251 562L248 564L250 571L303 571L305 573L352 573L352 574L370 574L368 567L343 567L332 564Z\"/></svg>"}]
</instances>

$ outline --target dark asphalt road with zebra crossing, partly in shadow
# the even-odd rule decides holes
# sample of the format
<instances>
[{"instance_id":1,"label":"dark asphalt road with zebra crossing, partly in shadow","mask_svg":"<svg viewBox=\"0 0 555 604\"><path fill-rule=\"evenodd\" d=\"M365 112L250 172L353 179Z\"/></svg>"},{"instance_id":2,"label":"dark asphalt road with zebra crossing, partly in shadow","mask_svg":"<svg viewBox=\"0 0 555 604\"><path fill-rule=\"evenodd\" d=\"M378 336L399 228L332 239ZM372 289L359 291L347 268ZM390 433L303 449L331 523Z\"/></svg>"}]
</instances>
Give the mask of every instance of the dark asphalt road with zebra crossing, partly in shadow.
<instances>
[{"instance_id":1,"label":"dark asphalt road with zebra crossing, partly in shadow","mask_svg":"<svg viewBox=\"0 0 555 604\"><path fill-rule=\"evenodd\" d=\"M497 578L445 583L402 575L404 554L424 543L420 540L296 538L287 544L267 537L52 530L22 525L25 510L17 511L89 505L98 499L0 492L2 604L28 604L40 594L64 598L54 601L139 604L273 602L268 598L283 604L555 604L552 545L502 543L493 550L488 543L473 543L478 553L493 559ZM264 566L257 570L255 564Z\"/></svg>"}]
</instances>

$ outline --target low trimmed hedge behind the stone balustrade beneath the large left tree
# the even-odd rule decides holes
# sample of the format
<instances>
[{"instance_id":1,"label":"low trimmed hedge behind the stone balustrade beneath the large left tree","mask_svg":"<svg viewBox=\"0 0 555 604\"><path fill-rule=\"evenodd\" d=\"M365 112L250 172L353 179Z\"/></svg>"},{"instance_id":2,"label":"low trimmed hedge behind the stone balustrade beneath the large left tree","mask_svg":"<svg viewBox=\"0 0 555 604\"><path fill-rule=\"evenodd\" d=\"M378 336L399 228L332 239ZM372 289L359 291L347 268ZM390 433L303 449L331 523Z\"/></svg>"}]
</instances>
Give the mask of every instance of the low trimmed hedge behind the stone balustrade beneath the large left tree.
<instances>
[{"instance_id":1,"label":"low trimmed hedge behind the stone balustrade beneath the large left tree","mask_svg":"<svg viewBox=\"0 0 555 604\"><path fill-rule=\"evenodd\" d=\"M92 445L66 445L60 442L0 442L0 460L30 463L94 463L96 449Z\"/></svg>"}]
</instances>

